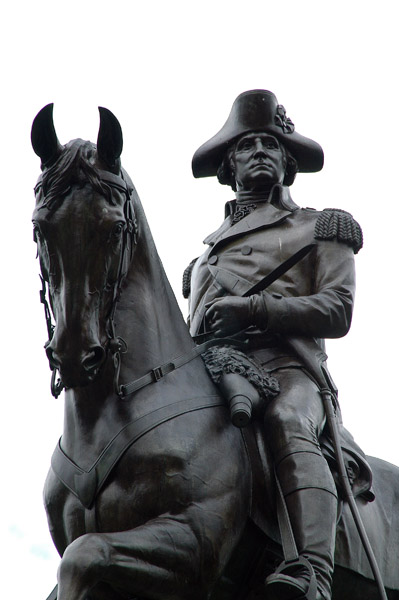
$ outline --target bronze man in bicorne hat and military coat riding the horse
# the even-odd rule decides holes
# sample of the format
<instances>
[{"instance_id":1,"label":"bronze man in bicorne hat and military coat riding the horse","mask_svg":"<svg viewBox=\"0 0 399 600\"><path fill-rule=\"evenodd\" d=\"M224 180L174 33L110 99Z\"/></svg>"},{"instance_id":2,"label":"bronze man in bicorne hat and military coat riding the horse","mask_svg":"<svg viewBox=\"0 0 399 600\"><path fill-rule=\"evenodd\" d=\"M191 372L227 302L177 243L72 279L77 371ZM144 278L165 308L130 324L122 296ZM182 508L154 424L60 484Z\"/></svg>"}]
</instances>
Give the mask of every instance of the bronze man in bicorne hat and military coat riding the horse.
<instances>
[{"instance_id":1,"label":"bronze man in bicorne hat and military coat riding the horse","mask_svg":"<svg viewBox=\"0 0 399 600\"><path fill-rule=\"evenodd\" d=\"M241 94L193 158L195 177L217 175L236 198L185 276L191 334L249 340L246 353L280 387L266 405L265 436L299 555L311 565L267 578L267 598L280 600L310 598L314 581L312 597L329 600L334 569L337 488L320 447L326 416L309 364L324 365L324 338L350 328L362 234L344 211L301 209L291 199L296 173L322 166L321 147L265 90Z\"/></svg>"}]
</instances>

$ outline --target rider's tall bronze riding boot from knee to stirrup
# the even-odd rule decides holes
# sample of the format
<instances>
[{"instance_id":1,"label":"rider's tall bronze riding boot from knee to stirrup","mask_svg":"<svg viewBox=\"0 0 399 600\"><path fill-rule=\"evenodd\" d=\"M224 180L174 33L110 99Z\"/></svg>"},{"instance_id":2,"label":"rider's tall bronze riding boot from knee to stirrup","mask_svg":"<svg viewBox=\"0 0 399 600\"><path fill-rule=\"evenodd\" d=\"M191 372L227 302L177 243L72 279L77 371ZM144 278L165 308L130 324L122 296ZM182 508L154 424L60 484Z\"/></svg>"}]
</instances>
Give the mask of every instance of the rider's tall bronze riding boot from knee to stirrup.
<instances>
[{"instance_id":1,"label":"rider's tall bronze riding boot from knee to stirrup","mask_svg":"<svg viewBox=\"0 0 399 600\"><path fill-rule=\"evenodd\" d=\"M320 471L320 467L328 469L324 457L307 452L291 455L278 467L278 476L285 497L291 527L300 557L306 558L316 576L317 592L309 592L312 573L295 563L274 573L266 580L268 600L331 600L331 582L334 571L335 530L337 519L337 497L331 473ZM307 455L307 456L306 456ZM299 458L299 461L298 461ZM313 463L313 471L306 479L312 478L323 487L299 487L300 477L284 473L283 463L293 461ZM324 464L321 462L324 461ZM319 466L319 468L317 468ZM308 468L311 464L308 464ZM290 469L289 469L290 470ZM300 468L299 471L302 469ZM315 472L316 471L316 472ZM280 473L281 477L280 477ZM298 474L299 475L299 474ZM296 489L295 489L296 488ZM313 597L310 597L313 596Z\"/></svg>"}]
</instances>

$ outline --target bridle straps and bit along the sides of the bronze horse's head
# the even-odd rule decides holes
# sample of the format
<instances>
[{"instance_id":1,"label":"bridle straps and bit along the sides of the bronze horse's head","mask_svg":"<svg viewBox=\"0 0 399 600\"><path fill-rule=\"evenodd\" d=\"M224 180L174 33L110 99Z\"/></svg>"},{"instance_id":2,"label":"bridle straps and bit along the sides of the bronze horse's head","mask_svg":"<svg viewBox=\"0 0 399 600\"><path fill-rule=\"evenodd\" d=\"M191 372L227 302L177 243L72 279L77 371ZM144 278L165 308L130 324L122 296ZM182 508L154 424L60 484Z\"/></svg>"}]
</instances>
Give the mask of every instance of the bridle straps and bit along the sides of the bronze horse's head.
<instances>
[{"instance_id":1,"label":"bridle straps and bit along the sides of the bronze horse's head","mask_svg":"<svg viewBox=\"0 0 399 600\"><path fill-rule=\"evenodd\" d=\"M123 231L123 238L121 244L121 252L119 256L119 267L118 267L118 276L116 278L115 283L112 286L112 301L111 308L107 317L106 331L108 335L108 348L113 357L114 366L115 366L115 376L114 376L114 387L116 392L119 395L119 371L120 371L120 355L127 351L126 342L120 336L117 336L115 333L115 311L116 305L120 298L122 291L122 283L126 276L128 266L130 265L132 256L133 256L133 248L137 243L137 221L134 214L133 202L132 202L132 194L133 187L129 186L126 180L123 178L123 173L121 175L115 175L109 171L98 171L99 179L102 183L105 183L111 188L115 188L118 191L125 194L125 202L123 205L123 214L125 217L125 228ZM42 176L40 176L36 186L35 186L35 194L37 194L38 190L41 187ZM130 243L129 243L130 242ZM55 326L52 323L51 319L51 311L49 302L47 300L47 296L50 295L48 286L46 285L46 279L43 275L40 275L40 279L42 282L42 289L40 290L40 302L44 305L44 315L47 326L47 334L48 341L45 344L47 347L51 339L54 335ZM64 384L61 380L61 377L57 379L57 371L58 369L50 364L50 369L52 371L51 375L51 393L55 398L58 398L62 390L64 389Z\"/></svg>"}]
</instances>

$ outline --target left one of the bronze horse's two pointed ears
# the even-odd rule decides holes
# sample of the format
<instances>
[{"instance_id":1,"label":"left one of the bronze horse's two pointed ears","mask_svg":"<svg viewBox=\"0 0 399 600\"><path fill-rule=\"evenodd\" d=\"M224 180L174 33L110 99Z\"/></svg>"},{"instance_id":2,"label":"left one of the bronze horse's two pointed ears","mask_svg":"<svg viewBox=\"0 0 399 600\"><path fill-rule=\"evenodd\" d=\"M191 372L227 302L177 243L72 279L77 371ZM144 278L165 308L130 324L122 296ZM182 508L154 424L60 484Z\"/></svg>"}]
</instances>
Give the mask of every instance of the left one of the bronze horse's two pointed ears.
<instances>
[{"instance_id":1,"label":"left one of the bronze horse's two pointed ears","mask_svg":"<svg viewBox=\"0 0 399 600\"><path fill-rule=\"evenodd\" d=\"M32 147L42 161L42 169L54 162L62 150L54 129L53 107L54 104L47 104L42 108L32 124Z\"/></svg>"}]
</instances>

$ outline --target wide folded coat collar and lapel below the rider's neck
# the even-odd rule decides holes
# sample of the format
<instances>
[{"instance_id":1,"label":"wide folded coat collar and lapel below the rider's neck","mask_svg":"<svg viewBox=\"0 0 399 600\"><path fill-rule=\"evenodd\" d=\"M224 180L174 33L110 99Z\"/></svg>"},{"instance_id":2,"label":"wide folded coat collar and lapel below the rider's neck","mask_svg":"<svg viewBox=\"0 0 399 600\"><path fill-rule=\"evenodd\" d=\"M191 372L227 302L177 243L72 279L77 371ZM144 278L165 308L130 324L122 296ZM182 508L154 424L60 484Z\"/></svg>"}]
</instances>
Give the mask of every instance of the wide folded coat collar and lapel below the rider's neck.
<instances>
[{"instance_id":1,"label":"wide folded coat collar and lapel below the rider's neck","mask_svg":"<svg viewBox=\"0 0 399 600\"><path fill-rule=\"evenodd\" d=\"M211 233L204 239L204 244L214 245L217 242L245 234L254 229L274 225L292 212L298 210L298 206L293 202L289 188L276 184L266 202L263 202L252 213L232 225L232 216L235 211L237 201L232 200L226 204L226 219L217 231Z\"/></svg>"}]
</instances>

